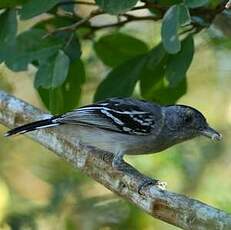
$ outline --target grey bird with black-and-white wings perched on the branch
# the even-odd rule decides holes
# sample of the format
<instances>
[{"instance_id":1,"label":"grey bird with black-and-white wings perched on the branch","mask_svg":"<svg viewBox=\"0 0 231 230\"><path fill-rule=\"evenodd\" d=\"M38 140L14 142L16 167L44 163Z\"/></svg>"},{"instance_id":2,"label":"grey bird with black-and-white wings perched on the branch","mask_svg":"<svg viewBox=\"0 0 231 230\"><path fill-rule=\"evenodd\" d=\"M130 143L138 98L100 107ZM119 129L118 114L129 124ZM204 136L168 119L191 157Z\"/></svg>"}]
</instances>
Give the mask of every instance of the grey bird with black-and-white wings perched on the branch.
<instances>
[{"instance_id":1,"label":"grey bird with black-and-white wings perched on the branch","mask_svg":"<svg viewBox=\"0 0 231 230\"><path fill-rule=\"evenodd\" d=\"M156 153L200 135L222 137L190 106L160 106L133 98L107 99L14 128L5 136L57 126L83 144L113 153L115 168L120 168L124 154Z\"/></svg>"}]
</instances>

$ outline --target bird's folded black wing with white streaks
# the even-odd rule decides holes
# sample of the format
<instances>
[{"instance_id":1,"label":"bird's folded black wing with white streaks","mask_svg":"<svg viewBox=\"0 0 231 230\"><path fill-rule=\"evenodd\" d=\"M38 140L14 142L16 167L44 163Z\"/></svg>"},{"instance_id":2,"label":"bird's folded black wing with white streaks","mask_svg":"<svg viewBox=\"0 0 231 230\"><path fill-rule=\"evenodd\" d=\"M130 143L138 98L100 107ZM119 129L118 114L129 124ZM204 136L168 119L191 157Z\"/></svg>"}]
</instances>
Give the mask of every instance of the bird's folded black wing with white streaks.
<instances>
[{"instance_id":1,"label":"bird's folded black wing with white streaks","mask_svg":"<svg viewBox=\"0 0 231 230\"><path fill-rule=\"evenodd\" d=\"M56 121L94 126L124 134L148 135L156 124L156 117L149 109L151 104L145 103L131 98L112 98L68 112Z\"/></svg>"}]
</instances>

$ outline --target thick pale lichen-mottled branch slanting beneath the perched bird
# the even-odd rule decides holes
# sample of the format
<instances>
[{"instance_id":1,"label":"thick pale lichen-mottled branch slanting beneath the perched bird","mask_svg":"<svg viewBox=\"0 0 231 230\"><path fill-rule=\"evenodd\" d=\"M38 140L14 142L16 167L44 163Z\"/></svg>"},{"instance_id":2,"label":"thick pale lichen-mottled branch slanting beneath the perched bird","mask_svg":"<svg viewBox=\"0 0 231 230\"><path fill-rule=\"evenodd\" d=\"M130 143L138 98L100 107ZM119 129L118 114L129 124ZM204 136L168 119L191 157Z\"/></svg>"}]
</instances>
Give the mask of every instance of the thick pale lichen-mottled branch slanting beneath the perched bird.
<instances>
[{"instance_id":1,"label":"thick pale lichen-mottled branch slanting beneath the perched bird","mask_svg":"<svg viewBox=\"0 0 231 230\"><path fill-rule=\"evenodd\" d=\"M0 91L0 123L5 126L12 128L47 116ZM200 201L156 186L142 189L142 195L137 193L145 178L142 174L128 164L131 174L116 171L111 167L112 154L74 143L58 128L34 131L28 136L155 218L183 229L231 229L231 215Z\"/></svg>"}]
</instances>

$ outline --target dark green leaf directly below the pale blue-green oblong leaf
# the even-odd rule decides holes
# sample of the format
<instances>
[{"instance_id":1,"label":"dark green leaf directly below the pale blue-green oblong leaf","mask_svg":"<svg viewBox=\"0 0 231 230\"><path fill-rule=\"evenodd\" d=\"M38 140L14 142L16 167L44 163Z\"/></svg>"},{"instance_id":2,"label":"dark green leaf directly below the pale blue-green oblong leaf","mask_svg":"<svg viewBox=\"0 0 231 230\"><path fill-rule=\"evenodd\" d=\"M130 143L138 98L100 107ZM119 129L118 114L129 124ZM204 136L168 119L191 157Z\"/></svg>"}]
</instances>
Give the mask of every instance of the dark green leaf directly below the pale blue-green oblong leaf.
<instances>
[{"instance_id":1,"label":"dark green leaf directly below the pale blue-green oblong leaf","mask_svg":"<svg viewBox=\"0 0 231 230\"><path fill-rule=\"evenodd\" d=\"M194 54L193 37L189 35L182 41L181 51L174 55L169 55L166 66L166 79L169 87L176 87L186 76L186 72L191 65Z\"/></svg>"}]
</instances>

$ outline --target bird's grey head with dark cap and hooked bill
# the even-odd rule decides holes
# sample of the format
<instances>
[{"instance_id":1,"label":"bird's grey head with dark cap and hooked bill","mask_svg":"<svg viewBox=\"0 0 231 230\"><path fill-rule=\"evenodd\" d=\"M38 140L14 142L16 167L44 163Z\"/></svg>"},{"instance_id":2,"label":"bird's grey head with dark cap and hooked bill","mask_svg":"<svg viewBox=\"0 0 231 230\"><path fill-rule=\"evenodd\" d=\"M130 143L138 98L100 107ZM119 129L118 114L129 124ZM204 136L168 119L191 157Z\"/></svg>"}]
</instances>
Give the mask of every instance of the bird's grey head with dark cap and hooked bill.
<instances>
[{"instance_id":1,"label":"bird's grey head with dark cap and hooked bill","mask_svg":"<svg viewBox=\"0 0 231 230\"><path fill-rule=\"evenodd\" d=\"M209 127L203 114L190 106L169 105L164 106L163 111L167 129L179 141L200 135L216 141L222 138L220 133Z\"/></svg>"}]
</instances>

